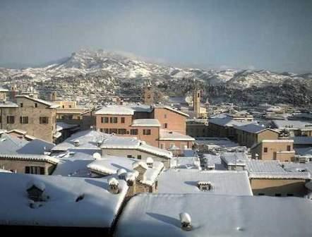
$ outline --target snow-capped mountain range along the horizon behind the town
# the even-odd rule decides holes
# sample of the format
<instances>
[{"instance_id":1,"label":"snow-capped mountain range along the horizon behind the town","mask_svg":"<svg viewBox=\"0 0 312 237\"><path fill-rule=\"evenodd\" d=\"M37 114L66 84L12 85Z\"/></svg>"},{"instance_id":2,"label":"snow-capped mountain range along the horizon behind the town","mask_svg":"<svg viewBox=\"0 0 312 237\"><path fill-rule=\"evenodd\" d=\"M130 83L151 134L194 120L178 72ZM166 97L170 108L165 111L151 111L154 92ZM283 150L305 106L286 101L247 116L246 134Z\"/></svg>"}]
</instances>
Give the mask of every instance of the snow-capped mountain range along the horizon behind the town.
<instances>
[{"instance_id":1,"label":"snow-capped mountain range along the horizon behind the town","mask_svg":"<svg viewBox=\"0 0 312 237\"><path fill-rule=\"evenodd\" d=\"M216 88L232 88L232 90L261 90L261 88L280 87L287 84L307 87L311 92L312 74L273 73L270 71L238 71L238 70L203 70L199 68L177 68L148 63L134 56L108 52L103 50L77 51L67 59L42 68L8 69L0 68L0 81L3 85L11 83L32 85L42 92L60 90L64 97L70 97L73 92L78 97L92 95L92 90L107 92L105 95L126 92L141 87L145 80L151 80L155 85L169 85L164 92L172 94L177 88L188 89L193 79L201 85ZM42 84L44 83L44 84ZM130 87L124 87L124 85ZM179 86L181 83L181 86ZM46 88L44 88L44 86ZM66 89L64 89L66 88ZM224 89L224 90L225 90ZM168 91L169 90L169 91ZM266 89L265 89L266 90ZM180 92L181 92L180 91ZM213 93L212 93L213 95ZM95 97L101 95L95 95ZM211 95L208 95L211 96ZM308 97L310 94L308 94Z\"/></svg>"}]
</instances>

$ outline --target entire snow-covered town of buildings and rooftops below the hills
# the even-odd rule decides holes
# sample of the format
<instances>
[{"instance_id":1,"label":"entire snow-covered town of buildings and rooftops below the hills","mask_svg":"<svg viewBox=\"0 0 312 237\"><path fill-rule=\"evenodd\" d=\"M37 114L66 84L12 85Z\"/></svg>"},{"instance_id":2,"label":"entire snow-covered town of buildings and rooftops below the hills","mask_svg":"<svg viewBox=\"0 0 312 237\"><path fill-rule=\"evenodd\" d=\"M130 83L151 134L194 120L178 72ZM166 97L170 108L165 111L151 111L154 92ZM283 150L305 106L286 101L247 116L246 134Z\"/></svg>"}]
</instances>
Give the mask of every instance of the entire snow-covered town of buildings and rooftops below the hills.
<instances>
[{"instance_id":1,"label":"entire snow-covered town of buildings and rooftops below the hills","mask_svg":"<svg viewBox=\"0 0 312 237\"><path fill-rule=\"evenodd\" d=\"M296 236L300 221L310 236L311 114L283 104L216 106L202 101L196 82L191 94L159 104L146 83L141 102L85 108L56 91L48 101L1 87L0 225Z\"/></svg>"}]
</instances>

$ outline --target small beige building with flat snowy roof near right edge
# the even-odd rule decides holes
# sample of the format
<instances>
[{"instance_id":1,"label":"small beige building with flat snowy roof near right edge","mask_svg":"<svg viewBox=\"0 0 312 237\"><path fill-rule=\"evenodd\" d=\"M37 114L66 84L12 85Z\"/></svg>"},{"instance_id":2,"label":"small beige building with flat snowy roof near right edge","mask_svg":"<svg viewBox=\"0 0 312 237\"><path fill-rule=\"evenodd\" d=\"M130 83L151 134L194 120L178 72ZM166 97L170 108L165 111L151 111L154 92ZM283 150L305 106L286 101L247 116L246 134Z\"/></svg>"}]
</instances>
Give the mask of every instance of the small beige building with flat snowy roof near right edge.
<instances>
[{"instance_id":1,"label":"small beige building with flat snowy roof near right edge","mask_svg":"<svg viewBox=\"0 0 312 237\"><path fill-rule=\"evenodd\" d=\"M294 154L294 140L262 140L251 147L253 159L291 162L294 160Z\"/></svg>"}]
</instances>

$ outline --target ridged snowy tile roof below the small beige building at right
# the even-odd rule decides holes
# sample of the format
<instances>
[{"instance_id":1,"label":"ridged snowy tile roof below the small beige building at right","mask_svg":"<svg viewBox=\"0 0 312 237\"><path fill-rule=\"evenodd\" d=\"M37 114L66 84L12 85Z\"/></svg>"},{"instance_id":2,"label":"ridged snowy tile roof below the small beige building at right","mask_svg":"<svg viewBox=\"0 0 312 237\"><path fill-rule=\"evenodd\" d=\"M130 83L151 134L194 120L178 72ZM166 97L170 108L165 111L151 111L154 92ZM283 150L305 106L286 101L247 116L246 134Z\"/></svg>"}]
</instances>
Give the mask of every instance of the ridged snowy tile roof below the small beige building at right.
<instances>
[{"instance_id":1,"label":"ridged snowy tile roof below the small beige building at right","mask_svg":"<svg viewBox=\"0 0 312 237\"><path fill-rule=\"evenodd\" d=\"M278 160L246 162L249 178L277 178L277 179L310 179L308 171L287 170Z\"/></svg>"}]
</instances>

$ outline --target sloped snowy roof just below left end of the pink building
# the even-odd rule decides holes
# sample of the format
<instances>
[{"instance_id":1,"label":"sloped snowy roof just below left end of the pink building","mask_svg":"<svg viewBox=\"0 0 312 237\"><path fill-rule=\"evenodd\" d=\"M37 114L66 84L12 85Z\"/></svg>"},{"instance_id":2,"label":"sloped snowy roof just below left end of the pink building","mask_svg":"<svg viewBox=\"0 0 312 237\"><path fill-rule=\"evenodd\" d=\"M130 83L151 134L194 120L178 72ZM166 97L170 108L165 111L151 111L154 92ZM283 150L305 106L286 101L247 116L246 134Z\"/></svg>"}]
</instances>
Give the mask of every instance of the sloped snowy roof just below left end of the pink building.
<instances>
[{"instance_id":1,"label":"sloped snowy roof just below left end of the pink building","mask_svg":"<svg viewBox=\"0 0 312 237\"><path fill-rule=\"evenodd\" d=\"M52 148L52 151L66 151L71 148L75 149L92 149L92 150L100 150L100 147L97 146L97 142L103 140L112 135L108 135L105 133L97 132L95 130L82 130L77 133L73 133L71 137L64 140L64 142L59 143L55 147ZM75 147L74 141L79 140L79 146Z\"/></svg>"}]
</instances>

